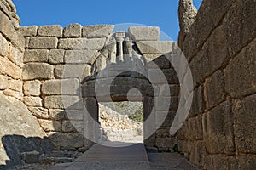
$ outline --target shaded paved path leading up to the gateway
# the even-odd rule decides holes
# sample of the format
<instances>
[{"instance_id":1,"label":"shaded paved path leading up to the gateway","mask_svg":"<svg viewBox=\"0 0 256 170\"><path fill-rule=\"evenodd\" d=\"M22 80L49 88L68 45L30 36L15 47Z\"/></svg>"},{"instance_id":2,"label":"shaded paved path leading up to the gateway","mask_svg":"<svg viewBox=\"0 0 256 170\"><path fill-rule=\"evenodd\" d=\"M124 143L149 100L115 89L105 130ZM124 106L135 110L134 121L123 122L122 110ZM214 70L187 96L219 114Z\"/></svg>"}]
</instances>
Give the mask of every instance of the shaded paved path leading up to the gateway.
<instances>
[{"instance_id":1,"label":"shaded paved path leading up to the gateway","mask_svg":"<svg viewBox=\"0 0 256 170\"><path fill-rule=\"evenodd\" d=\"M148 153L143 144L107 147L95 144L70 164L56 165L52 170L197 170L177 153Z\"/></svg>"}]
</instances>

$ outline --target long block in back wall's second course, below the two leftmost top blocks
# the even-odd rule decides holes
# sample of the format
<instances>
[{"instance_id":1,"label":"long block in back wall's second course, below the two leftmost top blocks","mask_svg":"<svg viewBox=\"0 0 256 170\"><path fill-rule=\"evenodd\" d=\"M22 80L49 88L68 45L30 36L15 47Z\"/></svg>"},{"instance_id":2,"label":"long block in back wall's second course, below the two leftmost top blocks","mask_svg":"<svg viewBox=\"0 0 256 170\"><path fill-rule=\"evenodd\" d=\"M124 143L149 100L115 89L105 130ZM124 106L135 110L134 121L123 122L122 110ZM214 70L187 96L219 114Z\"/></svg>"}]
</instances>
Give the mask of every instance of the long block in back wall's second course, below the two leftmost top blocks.
<instances>
[{"instance_id":1,"label":"long block in back wall's second course, below the two leftmost top blocks","mask_svg":"<svg viewBox=\"0 0 256 170\"><path fill-rule=\"evenodd\" d=\"M58 38L56 37L31 37L28 48L32 49L53 49L57 48Z\"/></svg>"}]
</instances>

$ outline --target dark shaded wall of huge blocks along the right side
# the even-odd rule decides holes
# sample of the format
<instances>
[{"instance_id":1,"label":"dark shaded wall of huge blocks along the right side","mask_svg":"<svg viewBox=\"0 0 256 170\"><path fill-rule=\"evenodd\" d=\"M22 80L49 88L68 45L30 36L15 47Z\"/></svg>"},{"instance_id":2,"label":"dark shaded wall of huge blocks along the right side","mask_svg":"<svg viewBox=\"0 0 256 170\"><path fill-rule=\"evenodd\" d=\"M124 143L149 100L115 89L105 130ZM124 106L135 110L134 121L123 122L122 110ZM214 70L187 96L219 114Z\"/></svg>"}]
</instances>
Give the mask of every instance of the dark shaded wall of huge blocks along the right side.
<instances>
[{"instance_id":1,"label":"dark shaded wall of huge blocks along the right side","mask_svg":"<svg viewBox=\"0 0 256 170\"><path fill-rule=\"evenodd\" d=\"M205 169L256 167L255 8L253 0L204 0L179 42L194 99L178 150Z\"/></svg>"}]
</instances>

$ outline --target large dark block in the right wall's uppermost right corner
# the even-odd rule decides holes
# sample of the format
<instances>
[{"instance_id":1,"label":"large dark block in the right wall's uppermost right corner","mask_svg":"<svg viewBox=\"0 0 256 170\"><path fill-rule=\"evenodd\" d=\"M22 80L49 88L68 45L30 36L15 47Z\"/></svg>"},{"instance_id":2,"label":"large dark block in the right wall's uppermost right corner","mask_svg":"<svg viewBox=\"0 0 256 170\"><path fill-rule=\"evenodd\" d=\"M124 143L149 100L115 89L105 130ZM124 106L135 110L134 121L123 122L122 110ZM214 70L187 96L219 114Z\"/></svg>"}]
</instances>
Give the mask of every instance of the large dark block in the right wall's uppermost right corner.
<instances>
[{"instance_id":1,"label":"large dark block in the right wall's uppermost right corner","mask_svg":"<svg viewBox=\"0 0 256 170\"><path fill-rule=\"evenodd\" d=\"M227 46L229 47L230 57L233 57L241 48L255 39L255 7L252 0L239 0L234 3L224 17L224 28L228 37Z\"/></svg>"}]
</instances>

